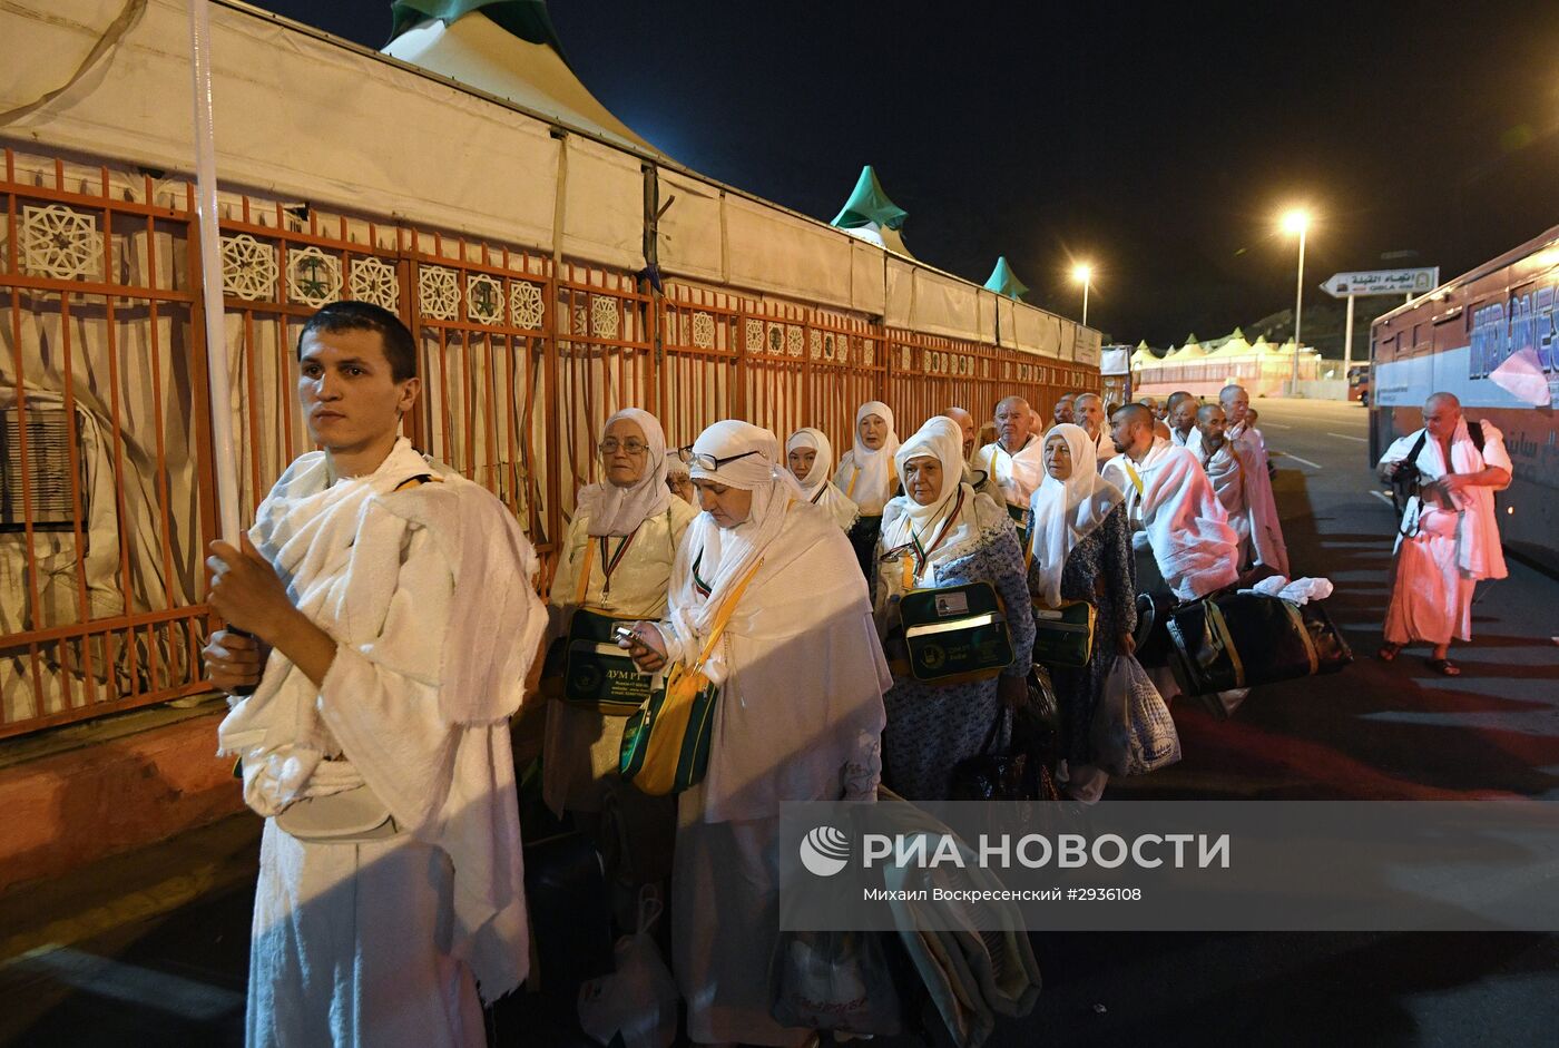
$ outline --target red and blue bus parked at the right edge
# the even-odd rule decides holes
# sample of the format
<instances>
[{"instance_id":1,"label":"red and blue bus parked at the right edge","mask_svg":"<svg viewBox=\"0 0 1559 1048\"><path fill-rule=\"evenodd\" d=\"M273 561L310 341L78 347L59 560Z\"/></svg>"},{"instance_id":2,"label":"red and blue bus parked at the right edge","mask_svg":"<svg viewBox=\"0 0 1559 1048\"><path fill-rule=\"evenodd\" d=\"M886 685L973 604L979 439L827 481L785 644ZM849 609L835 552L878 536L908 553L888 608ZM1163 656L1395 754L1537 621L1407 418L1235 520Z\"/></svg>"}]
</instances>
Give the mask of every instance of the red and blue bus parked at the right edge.
<instances>
[{"instance_id":1,"label":"red and blue bus parked at the right edge","mask_svg":"<svg viewBox=\"0 0 1559 1048\"><path fill-rule=\"evenodd\" d=\"M1469 420L1504 434L1514 479L1500 496L1506 551L1559 574L1559 226L1370 328L1370 465L1423 426L1430 393L1455 393ZM1539 377L1539 374L1542 377Z\"/></svg>"}]
</instances>

